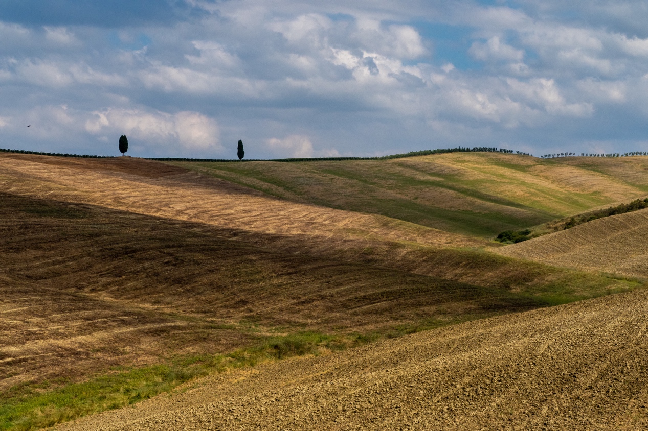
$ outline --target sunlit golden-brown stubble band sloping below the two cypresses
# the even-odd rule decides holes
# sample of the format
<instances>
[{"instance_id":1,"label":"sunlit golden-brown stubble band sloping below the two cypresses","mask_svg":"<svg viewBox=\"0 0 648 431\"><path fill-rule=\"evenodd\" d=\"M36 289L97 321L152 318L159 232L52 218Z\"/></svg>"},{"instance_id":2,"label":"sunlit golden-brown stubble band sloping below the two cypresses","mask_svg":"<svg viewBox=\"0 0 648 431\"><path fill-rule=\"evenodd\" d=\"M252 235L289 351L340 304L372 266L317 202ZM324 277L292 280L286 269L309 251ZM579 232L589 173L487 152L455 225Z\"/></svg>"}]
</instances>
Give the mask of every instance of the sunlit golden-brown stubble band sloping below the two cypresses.
<instances>
[{"instance_id":1,"label":"sunlit golden-brown stubble band sloping below the two cypresses","mask_svg":"<svg viewBox=\"0 0 648 431\"><path fill-rule=\"evenodd\" d=\"M377 238L474 247L485 241L389 217L277 199L143 159L0 155L0 191L315 241Z\"/></svg>"}]
</instances>

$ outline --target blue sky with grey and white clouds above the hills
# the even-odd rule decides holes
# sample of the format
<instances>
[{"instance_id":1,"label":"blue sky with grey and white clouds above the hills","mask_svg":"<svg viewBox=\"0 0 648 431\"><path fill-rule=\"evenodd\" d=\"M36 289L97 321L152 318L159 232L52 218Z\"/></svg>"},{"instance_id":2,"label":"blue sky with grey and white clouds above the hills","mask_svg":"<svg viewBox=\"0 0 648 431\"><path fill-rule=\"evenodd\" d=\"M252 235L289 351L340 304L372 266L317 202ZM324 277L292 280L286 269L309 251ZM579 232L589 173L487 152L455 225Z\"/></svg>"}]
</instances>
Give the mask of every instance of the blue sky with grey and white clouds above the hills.
<instances>
[{"instance_id":1,"label":"blue sky with grey and white clouds above the hills","mask_svg":"<svg viewBox=\"0 0 648 431\"><path fill-rule=\"evenodd\" d=\"M623 0L0 0L0 148L648 151L646 23Z\"/></svg>"}]
</instances>

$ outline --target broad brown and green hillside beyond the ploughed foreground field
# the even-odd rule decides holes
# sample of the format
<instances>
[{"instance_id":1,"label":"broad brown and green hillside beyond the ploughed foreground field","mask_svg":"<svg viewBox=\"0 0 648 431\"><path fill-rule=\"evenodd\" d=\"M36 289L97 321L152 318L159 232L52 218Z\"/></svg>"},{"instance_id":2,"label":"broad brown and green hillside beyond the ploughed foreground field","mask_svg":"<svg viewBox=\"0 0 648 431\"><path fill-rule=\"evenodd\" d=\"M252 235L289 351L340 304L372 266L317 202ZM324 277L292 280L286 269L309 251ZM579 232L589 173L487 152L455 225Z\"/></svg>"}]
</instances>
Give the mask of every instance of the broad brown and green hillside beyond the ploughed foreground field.
<instances>
[{"instance_id":1,"label":"broad brown and green hillside beyond the ploughed foreground field","mask_svg":"<svg viewBox=\"0 0 648 431\"><path fill-rule=\"evenodd\" d=\"M642 287L488 240L645 194L643 158L623 163L0 154L0 429L259 360Z\"/></svg>"}]
</instances>

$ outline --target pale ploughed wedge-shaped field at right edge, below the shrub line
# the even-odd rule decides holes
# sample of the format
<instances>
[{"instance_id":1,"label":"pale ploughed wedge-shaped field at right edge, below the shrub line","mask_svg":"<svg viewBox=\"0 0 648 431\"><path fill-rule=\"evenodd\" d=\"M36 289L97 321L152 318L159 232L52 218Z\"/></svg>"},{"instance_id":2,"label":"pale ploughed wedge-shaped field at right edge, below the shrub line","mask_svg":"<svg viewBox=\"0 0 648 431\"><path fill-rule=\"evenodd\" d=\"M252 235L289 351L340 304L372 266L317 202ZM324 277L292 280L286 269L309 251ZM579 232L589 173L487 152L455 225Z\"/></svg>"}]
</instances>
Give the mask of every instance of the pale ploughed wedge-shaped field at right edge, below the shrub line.
<instances>
[{"instance_id":1,"label":"pale ploughed wedge-shaped field at right edge, below the shrub line","mask_svg":"<svg viewBox=\"0 0 648 431\"><path fill-rule=\"evenodd\" d=\"M648 210L603 217L495 252L581 271L648 278Z\"/></svg>"}]
</instances>

